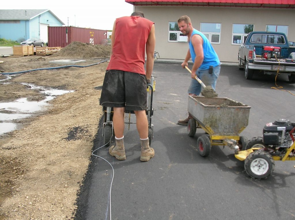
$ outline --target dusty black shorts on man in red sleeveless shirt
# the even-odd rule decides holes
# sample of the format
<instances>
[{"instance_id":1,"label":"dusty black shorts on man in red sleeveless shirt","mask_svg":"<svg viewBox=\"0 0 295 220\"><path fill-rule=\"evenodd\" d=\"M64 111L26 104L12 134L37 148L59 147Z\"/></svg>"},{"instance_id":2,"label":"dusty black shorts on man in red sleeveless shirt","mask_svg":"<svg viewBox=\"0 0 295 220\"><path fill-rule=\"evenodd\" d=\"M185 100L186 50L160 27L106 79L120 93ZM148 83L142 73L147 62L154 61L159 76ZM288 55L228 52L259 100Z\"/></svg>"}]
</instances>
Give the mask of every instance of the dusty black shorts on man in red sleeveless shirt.
<instances>
[{"instance_id":1,"label":"dusty black shorts on man in red sleeveless shirt","mask_svg":"<svg viewBox=\"0 0 295 220\"><path fill-rule=\"evenodd\" d=\"M130 111L147 109L146 76L121 70L107 70L99 104L125 107Z\"/></svg>"}]
</instances>

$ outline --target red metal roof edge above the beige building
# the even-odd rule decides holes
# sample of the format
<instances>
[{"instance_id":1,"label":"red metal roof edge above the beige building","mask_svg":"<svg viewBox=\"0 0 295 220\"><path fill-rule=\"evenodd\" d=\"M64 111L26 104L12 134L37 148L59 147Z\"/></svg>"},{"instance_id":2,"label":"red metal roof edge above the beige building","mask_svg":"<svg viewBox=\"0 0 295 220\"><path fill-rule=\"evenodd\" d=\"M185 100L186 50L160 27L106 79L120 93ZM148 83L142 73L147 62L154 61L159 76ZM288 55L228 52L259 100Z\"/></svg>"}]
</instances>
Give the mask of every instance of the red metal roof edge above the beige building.
<instances>
[{"instance_id":1,"label":"red metal roof edge above the beige building","mask_svg":"<svg viewBox=\"0 0 295 220\"><path fill-rule=\"evenodd\" d=\"M137 6L237 6L295 8L295 0L125 0Z\"/></svg>"}]
</instances>

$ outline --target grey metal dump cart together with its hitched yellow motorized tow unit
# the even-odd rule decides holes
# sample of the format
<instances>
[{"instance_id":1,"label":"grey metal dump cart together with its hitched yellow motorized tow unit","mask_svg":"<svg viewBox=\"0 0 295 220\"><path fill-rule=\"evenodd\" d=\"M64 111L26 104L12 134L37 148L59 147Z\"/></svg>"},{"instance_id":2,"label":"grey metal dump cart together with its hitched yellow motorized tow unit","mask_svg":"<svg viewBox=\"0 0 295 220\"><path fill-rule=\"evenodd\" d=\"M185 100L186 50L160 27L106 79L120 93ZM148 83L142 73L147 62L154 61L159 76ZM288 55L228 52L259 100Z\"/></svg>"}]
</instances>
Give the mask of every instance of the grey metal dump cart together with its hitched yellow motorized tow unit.
<instances>
[{"instance_id":1,"label":"grey metal dump cart together with its hitched yellow motorized tow unit","mask_svg":"<svg viewBox=\"0 0 295 220\"><path fill-rule=\"evenodd\" d=\"M275 160L295 160L295 123L288 119L268 123L263 137L248 141L239 134L248 125L250 108L228 98L189 96L188 111L193 119L189 119L187 132L191 137L197 128L207 133L197 139L201 156L208 156L213 145L228 146L238 160L245 161L250 177L264 179L273 172Z\"/></svg>"}]
</instances>

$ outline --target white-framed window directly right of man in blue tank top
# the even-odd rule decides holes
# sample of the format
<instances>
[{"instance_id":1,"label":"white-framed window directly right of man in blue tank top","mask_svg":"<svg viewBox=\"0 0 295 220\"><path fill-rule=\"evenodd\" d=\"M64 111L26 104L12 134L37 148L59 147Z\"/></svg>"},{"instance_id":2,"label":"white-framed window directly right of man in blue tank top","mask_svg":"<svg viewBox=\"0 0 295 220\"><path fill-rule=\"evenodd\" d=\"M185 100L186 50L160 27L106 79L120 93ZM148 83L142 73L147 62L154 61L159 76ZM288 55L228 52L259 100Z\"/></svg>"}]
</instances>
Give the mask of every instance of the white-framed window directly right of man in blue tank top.
<instances>
[{"instance_id":1,"label":"white-framed window directly right of man in blue tank top","mask_svg":"<svg viewBox=\"0 0 295 220\"><path fill-rule=\"evenodd\" d=\"M211 44L220 44L220 23L201 23L201 32L208 38Z\"/></svg>"}]
</instances>

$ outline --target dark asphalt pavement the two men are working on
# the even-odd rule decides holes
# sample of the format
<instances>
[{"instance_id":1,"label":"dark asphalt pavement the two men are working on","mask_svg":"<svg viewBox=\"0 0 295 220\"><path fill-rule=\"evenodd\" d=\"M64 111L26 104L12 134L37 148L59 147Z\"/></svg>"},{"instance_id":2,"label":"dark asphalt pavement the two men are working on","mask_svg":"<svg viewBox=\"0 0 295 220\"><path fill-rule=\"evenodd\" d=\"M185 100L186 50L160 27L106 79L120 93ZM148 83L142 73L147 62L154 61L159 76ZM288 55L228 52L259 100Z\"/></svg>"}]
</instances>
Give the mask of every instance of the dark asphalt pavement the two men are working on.
<instances>
[{"instance_id":1,"label":"dark asphalt pavement the two men are working on","mask_svg":"<svg viewBox=\"0 0 295 220\"><path fill-rule=\"evenodd\" d=\"M228 147L212 146L210 155L201 157L196 142L204 130L197 129L189 137L187 127L177 124L186 117L190 74L177 63L155 63L153 76L155 157L140 161L136 126L128 130L126 125L127 159L116 160L109 155L109 147L95 152L114 172L104 159L92 157L81 183L76 219L295 219L295 162L275 161L272 175L257 180L246 174L244 163ZM295 84L286 76L278 76L276 83L295 93ZM237 66L221 66L216 86L219 97L251 106L249 124L240 135L251 139L262 136L268 122L295 121L295 97L271 87L276 87L274 76L246 80ZM94 149L103 145L101 128Z\"/></svg>"}]
</instances>

